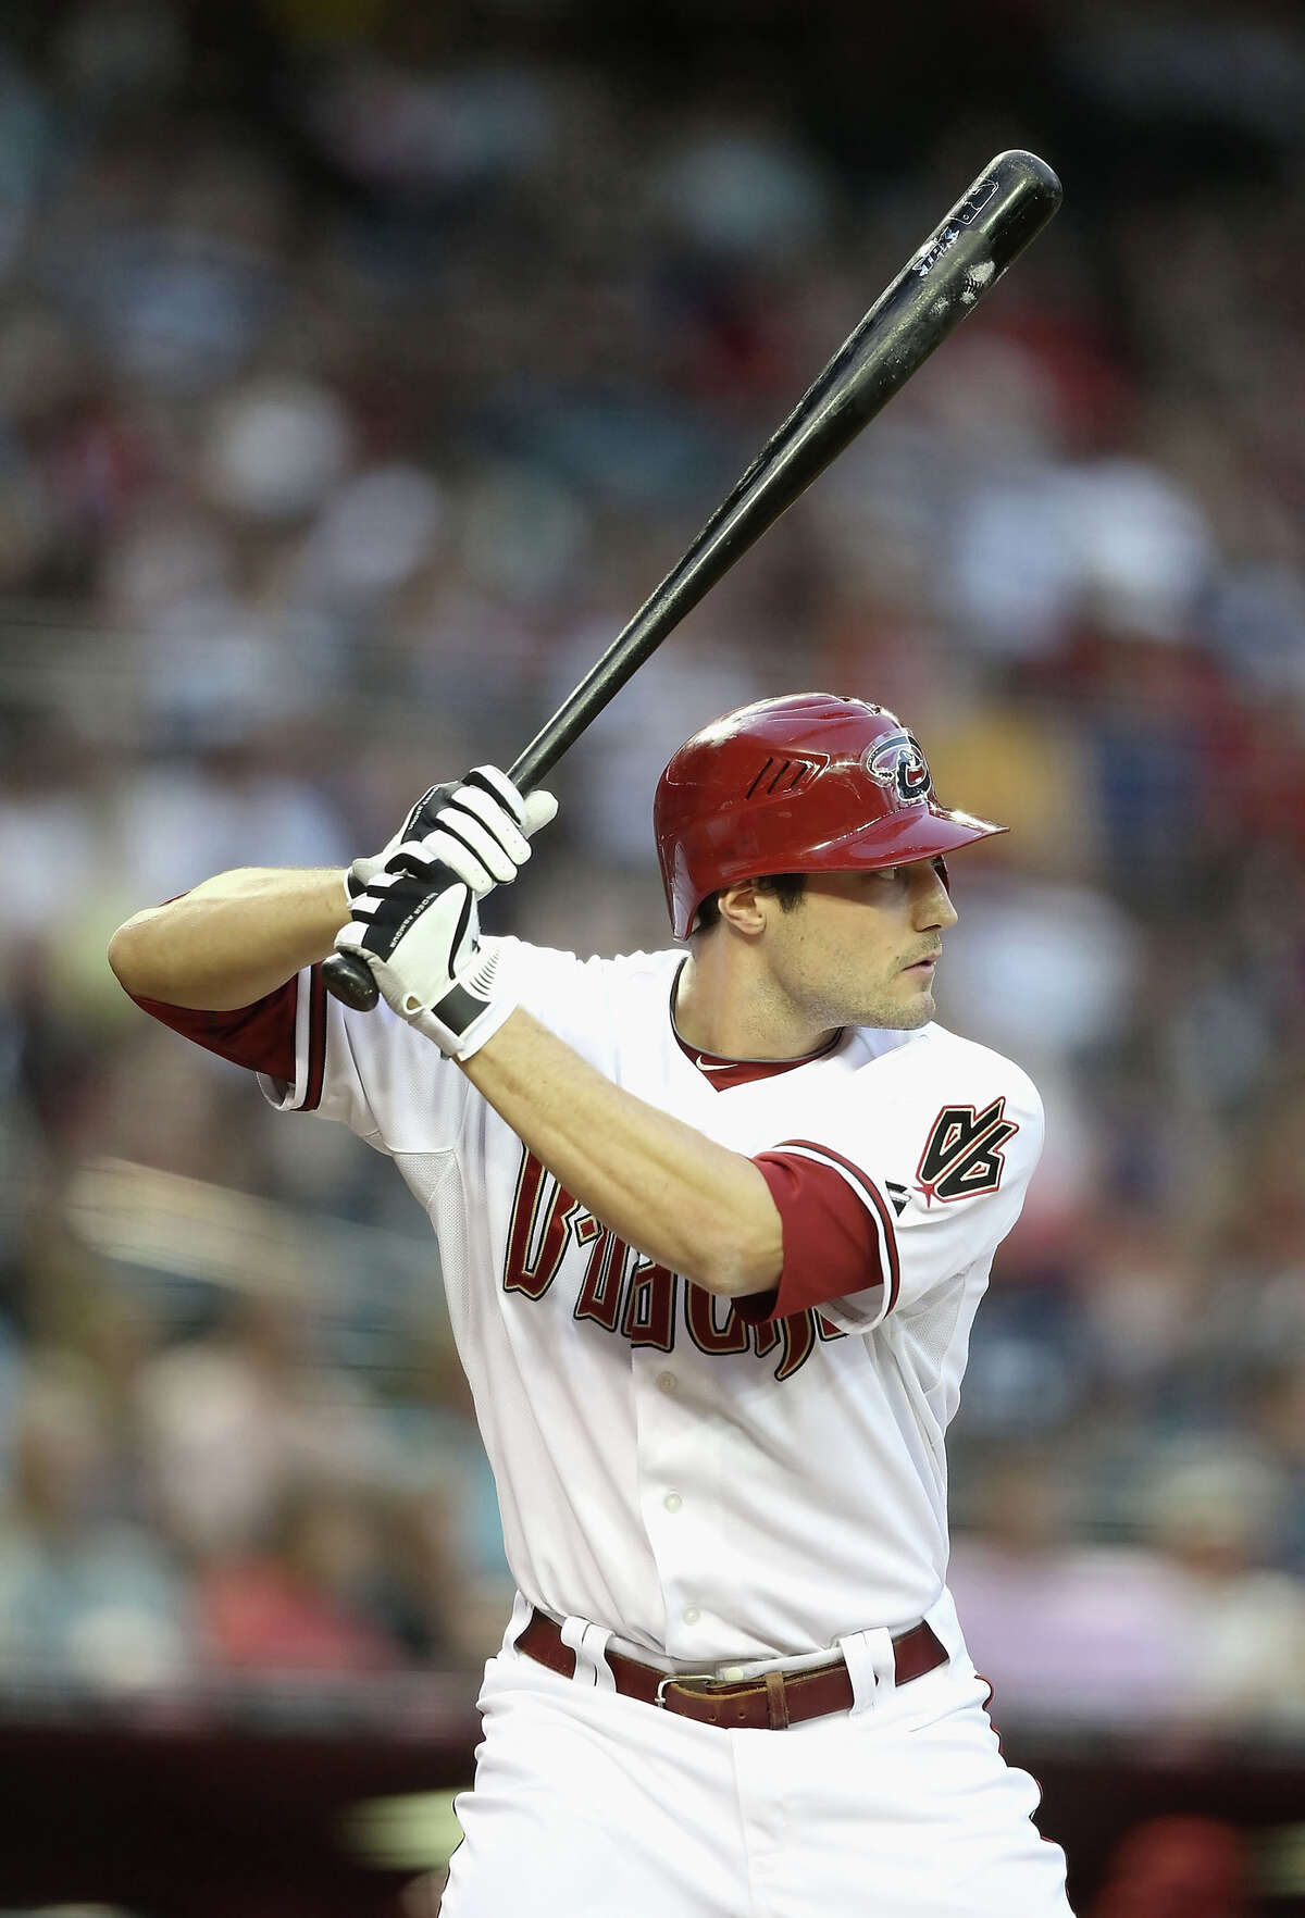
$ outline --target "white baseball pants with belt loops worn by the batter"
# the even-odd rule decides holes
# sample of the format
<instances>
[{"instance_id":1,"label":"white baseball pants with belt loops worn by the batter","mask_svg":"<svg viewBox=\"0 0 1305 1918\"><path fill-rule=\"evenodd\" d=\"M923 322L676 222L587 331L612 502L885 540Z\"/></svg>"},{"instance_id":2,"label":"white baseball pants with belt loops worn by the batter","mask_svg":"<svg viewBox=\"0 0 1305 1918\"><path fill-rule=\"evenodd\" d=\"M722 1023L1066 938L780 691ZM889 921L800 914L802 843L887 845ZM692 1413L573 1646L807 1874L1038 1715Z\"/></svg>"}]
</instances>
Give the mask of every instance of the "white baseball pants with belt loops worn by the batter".
<instances>
[{"instance_id":1,"label":"white baseball pants with belt loops worn by the batter","mask_svg":"<svg viewBox=\"0 0 1305 1918\"><path fill-rule=\"evenodd\" d=\"M583 1621L576 1678L505 1646L441 1918L1073 1918L950 1596L927 1617L950 1665L898 1690L889 1634L856 1632L854 1709L785 1732L622 1697Z\"/></svg>"}]
</instances>

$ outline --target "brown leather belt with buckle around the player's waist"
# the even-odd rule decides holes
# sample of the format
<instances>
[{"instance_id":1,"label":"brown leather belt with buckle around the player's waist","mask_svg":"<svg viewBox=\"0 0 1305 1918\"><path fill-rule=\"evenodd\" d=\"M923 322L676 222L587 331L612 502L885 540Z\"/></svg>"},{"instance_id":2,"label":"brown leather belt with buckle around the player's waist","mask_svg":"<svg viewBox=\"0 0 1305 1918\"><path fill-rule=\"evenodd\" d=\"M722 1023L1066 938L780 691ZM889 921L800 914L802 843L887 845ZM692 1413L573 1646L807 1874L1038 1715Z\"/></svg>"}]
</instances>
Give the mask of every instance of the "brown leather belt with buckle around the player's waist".
<instances>
[{"instance_id":1,"label":"brown leather belt with buckle around the player's waist","mask_svg":"<svg viewBox=\"0 0 1305 1918\"><path fill-rule=\"evenodd\" d=\"M516 1649L562 1678L576 1676L576 1653L562 1644L562 1628L543 1611L530 1613L530 1625L516 1640ZM923 1678L925 1672L946 1665L948 1653L937 1632L921 1619L910 1632L892 1640L892 1661L896 1682L910 1684L912 1678ZM791 1724L802 1724L804 1719L823 1719L831 1711L852 1709L852 1674L842 1659L798 1672L762 1672L760 1678L739 1682L712 1678L710 1672L660 1672L654 1665L639 1665L610 1649L606 1663L616 1690L626 1697L731 1732L783 1732Z\"/></svg>"}]
</instances>

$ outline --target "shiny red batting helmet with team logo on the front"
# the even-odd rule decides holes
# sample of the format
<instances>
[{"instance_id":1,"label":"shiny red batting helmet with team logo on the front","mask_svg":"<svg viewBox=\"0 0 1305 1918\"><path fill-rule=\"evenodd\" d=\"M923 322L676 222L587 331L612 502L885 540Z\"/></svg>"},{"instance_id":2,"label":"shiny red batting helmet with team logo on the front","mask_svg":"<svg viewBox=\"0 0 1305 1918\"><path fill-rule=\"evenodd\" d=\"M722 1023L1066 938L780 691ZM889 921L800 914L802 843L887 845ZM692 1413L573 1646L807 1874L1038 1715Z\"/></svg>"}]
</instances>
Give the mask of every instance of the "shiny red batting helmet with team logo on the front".
<instances>
[{"instance_id":1,"label":"shiny red batting helmet with team logo on the front","mask_svg":"<svg viewBox=\"0 0 1305 1918\"><path fill-rule=\"evenodd\" d=\"M708 894L743 878L906 865L1006 832L944 811L896 713L835 692L712 719L662 773L652 829L677 940Z\"/></svg>"}]
</instances>

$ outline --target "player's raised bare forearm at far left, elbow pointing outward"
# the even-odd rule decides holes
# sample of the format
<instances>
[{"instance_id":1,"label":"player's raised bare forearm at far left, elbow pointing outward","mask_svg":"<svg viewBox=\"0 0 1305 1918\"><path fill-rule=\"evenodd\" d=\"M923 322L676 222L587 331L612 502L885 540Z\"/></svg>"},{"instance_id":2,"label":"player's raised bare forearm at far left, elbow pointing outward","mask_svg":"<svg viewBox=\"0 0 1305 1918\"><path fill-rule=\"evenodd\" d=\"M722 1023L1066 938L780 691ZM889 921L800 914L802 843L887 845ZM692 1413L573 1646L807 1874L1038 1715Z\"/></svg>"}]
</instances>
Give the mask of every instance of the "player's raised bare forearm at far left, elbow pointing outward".
<instances>
[{"instance_id":1,"label":"player's raised bare forearm at far left, elbow pointing outward","mask_svg":"<svg viewBox=\"0 0 1305 1918\"><path fill-rule=\"evenodd\" d=\"M138 999L228 1013L324 959L347 919L334 867L242 867L136 913L109 940L109 965Z\"/></svg>"}]
</instances>

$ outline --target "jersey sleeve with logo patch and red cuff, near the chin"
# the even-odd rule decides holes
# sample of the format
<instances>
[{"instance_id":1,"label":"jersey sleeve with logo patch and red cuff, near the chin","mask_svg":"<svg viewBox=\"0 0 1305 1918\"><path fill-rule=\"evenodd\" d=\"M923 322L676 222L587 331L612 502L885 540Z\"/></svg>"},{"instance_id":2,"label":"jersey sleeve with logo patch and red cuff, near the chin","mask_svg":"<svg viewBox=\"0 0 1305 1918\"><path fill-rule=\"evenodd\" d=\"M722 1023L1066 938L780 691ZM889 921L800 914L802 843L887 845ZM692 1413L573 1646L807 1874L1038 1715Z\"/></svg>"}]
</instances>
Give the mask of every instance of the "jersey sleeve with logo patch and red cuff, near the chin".
<instances>
[{"instance_id":1,"label":"jersey sleeve with logo patch and red cuff, near the chin","mask_svg":"<svg viewBox=\"0 0 1305 1918\"><path fill-rule=\"evenodd\" d=\"M904 1045L856 1074L810 1135L756 1164L783 1224L773 1293L745 1318L819 1308L846 1333L908 1314L948 1279L986 1274L1042 1151L1042 1101L1008 1059L950 1041Z\"/></svg>"}]
</instances>

